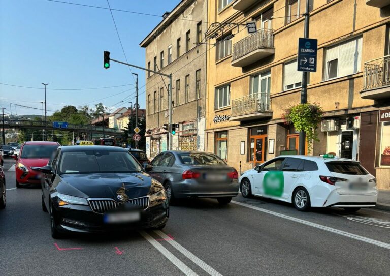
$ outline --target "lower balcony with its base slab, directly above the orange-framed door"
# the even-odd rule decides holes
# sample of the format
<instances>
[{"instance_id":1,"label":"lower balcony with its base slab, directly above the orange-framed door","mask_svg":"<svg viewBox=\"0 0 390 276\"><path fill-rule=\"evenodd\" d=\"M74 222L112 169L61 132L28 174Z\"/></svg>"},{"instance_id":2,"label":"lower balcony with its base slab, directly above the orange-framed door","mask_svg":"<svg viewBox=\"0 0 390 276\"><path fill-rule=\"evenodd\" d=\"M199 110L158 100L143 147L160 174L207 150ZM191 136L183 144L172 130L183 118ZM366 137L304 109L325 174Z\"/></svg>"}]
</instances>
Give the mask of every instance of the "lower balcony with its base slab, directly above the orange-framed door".
<instances>
[{"instance_id":1,"label":"lower balcony with its base slab, directly above the orange-framed door","mask_svg":"<svg viewBox=\"0 0 390 276\"><path fill-rule=\"evenodd\" d=\"M232 101L231 121L272 117L270 93L254 93Z\"/></svg>"}]
</instances>

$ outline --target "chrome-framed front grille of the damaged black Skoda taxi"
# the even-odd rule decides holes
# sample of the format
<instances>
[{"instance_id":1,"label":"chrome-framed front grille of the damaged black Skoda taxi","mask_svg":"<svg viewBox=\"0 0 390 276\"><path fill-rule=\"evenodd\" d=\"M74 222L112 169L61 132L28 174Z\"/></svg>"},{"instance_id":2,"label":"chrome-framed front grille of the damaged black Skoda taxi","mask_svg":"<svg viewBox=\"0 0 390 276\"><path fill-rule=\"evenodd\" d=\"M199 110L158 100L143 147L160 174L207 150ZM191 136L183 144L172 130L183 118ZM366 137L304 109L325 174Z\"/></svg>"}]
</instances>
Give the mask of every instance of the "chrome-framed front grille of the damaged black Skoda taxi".
<instances>
[{"instance_id":1,"label":"chrome-framed front grille of the damaged black Skoda taxi","mask_svg":"<svg viewBox=\"0 0 390 276\"><path fill-rule=\"evenodd\" d=\"M125 203L134 204L143 209L147 209L149 206L149 197L145 196L140 198L129 199L126 202L117 202L109 198L99 198L99 199L89 198L88 202L92 211L94 211L95 213L104 213L109 210L116 209Z\"/></svg>"}]
</instances>

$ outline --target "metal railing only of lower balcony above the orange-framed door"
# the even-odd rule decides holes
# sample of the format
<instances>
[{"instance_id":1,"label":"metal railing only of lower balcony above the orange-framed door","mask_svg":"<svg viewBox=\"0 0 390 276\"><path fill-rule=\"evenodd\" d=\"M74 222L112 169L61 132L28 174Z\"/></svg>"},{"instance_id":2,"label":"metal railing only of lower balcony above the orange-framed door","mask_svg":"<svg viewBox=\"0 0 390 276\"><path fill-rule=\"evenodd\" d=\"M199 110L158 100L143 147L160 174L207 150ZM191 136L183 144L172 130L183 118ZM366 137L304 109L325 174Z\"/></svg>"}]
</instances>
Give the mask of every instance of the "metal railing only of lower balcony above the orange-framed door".
<instances>
[{"instance_id":1,"label":"metal railing only of lower balcony above the orange-framed door","mask_svg":"<svg viewBox=\"0 0 390 276\"><path fill-rule=\"evenodd\" d=\"M254 93L232 101L232 117L271 111L270 93Z\"/></svg>"}]
</instances>

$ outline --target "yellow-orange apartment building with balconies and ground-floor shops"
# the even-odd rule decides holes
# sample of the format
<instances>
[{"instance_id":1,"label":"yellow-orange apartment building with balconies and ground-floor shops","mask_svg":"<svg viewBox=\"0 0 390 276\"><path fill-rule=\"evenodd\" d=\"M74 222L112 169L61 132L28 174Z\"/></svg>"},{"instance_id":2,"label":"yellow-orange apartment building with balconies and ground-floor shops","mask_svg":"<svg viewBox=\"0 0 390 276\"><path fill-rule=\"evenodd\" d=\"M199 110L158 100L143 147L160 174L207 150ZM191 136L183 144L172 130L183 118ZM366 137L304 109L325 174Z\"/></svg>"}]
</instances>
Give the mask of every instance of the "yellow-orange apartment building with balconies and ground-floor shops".
<instances>
[{"instance_id":1,"label":"yellow-orange apartment building with balconies and ground-floor shops","mask_svg":"<svg viewBox=\"0 0 390 276\"><path fill-rule=\"evenodd\" d=\"M324 109L310 155L359 160L390 189L390 8L388 1L311 0L309 37L318 40L308 101ZM282 119L300 103L298 38L306 0L210 0L206 150L245 171L296 152ZM257 32L248 34L247 22ZM213 45L215 43L215 46Z\"/></svg>"}]
</instances>

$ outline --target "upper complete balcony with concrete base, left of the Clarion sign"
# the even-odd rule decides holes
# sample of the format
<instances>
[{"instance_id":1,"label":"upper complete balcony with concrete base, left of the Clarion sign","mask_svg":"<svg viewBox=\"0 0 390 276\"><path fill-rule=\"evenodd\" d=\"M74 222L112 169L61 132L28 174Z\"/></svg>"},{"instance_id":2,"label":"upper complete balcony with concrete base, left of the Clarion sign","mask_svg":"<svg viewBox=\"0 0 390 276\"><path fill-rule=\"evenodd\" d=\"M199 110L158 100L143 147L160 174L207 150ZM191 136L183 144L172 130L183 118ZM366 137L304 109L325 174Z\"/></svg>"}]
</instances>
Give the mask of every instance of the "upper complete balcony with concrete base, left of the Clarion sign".
<instances>
[{"instance_id":1,"label":"upper complete balcony with concrete base, left of the Clarion sign","mask_svg":"<svg viewBox=\"0 0 390 276\"><path fill-rule=\"evenodd\" d=\"M275 54L274 30L259 29L233 45L232 66L244 67Z\"/></svg>"}]
</instances>

